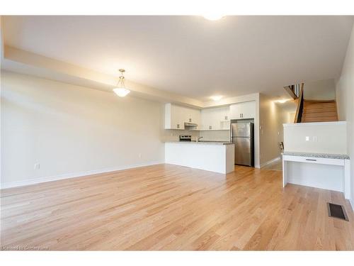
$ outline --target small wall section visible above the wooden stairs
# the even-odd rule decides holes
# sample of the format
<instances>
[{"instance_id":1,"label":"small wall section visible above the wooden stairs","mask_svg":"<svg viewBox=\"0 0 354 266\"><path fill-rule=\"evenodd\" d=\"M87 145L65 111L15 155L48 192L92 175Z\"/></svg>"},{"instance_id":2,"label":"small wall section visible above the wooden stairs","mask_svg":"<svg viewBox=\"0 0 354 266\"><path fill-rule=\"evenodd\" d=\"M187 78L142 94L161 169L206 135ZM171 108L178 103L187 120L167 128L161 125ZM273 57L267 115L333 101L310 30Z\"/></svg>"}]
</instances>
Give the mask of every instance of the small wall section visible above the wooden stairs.
<instances>
[{"instance_id":1,"label":"small wall section visible above the wooden stairs","mask_svg":"<svg viewBox=\"0 0 354 266\"><path fill-rule=\"evenodd\" d=\"M304 83L305 100L334 100L336 99L336 83L334 79L324 79Z\"/></svg>"}]
</instances>

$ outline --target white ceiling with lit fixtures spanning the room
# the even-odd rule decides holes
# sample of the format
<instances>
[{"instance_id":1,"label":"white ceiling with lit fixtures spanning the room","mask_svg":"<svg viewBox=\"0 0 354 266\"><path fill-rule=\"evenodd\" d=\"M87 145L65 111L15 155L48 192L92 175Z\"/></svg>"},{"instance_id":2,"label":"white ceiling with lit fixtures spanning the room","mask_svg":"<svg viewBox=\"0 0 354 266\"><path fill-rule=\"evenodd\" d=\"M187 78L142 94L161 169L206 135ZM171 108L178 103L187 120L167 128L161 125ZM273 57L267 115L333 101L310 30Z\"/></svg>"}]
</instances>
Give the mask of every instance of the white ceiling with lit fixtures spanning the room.
<instances>
[{"instance_id":1,"label":"white ceiling with lit fixtures spanning the room","mask_svg":"<svg viewBox=\"0 0 354 266\"><path fill-rule=\"evenodd\" d=\"M353 16L5 16L6 45L156 89L282 94L341 72Z\"/></svg>"}]
</instances>

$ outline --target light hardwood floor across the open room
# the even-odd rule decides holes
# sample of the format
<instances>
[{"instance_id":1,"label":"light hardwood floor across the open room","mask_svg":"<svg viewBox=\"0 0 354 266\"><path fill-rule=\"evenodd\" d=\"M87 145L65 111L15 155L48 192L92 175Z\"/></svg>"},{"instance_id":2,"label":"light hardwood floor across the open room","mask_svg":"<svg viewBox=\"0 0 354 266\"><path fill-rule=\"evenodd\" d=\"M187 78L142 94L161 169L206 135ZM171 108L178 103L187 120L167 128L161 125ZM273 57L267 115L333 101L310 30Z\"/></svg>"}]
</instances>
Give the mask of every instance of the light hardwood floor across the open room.
<instances>
[{"instance_id":1,"label":"light hardwood floor across the open room","mask_svg":"<svg viewBox=\"0 0 354 266\"><path fill-rule=\"evenodd\" d=\"M354 250L343 194L280 171L224 175L175 165L1 191L1 246L50 250ZM343 204L350 221L330 218Z\"/></svg>"}]
</instances>

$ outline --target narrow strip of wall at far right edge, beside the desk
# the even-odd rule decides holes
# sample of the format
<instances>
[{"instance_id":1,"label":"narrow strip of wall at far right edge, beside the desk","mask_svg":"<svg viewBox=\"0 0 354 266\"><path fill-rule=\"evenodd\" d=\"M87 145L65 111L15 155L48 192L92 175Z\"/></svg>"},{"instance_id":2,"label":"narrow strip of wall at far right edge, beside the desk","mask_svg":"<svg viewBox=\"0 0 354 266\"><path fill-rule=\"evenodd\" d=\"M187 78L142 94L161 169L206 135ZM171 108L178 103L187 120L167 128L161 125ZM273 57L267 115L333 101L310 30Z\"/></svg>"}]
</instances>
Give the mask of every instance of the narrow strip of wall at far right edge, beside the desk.
<instances>
[{"instance_id":1,"label":"narrow strip of wall at far right edge, beside the desk","mask_svg":"<svg viewBox=\"0 0 354 266\"><path fill-rule=\"evenodd\" d=\"M354 208L354 27L348 44L341 77L336 83L336 101L338 116L341 121L347 121L348 154L350 155L350 202Z\"/></svg>"}]
</instances>

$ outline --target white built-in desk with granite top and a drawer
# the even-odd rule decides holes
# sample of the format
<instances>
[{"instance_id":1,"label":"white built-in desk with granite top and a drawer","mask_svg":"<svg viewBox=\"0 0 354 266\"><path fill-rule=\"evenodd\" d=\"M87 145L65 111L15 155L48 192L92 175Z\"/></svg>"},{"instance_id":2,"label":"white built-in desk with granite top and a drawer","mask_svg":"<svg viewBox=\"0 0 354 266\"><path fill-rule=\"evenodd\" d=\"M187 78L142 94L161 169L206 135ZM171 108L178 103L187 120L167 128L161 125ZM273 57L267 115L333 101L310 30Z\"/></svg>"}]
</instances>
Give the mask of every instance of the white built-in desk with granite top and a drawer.
<instances>
[{"instance_id":1,"label":"white built-in desk with granite top and a drawer","mask_svg":"<svg viewBox=\"0 0 354 266\"><path fill-rule=\"evenodd\" d=\"M350 198L348 155L291 153L282 155L282 186L287 183L343 192Z\"/></svg>"}]
</instances>

